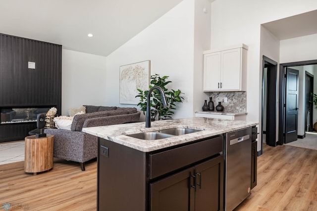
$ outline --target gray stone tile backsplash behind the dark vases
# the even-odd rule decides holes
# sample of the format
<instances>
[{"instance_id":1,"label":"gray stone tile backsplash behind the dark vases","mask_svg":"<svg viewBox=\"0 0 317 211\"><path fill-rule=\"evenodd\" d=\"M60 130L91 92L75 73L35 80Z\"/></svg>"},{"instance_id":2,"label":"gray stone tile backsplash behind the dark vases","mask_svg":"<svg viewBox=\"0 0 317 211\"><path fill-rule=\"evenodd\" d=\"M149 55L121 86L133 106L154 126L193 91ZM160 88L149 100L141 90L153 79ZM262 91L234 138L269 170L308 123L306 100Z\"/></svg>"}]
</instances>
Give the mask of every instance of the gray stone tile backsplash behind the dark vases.
<instances>
[{"instance_id":1,"label":"gray stone tile backsplash behind the dark vases","mask_svg":"<svg viewBox=\"0 0 317 211\"><path fill-rule=\"evenodd\" d=\"M218 102L221 102L224 107L223 112L247 112L246 92L210 92L209 97L212 97L214 107L218 105ZM224 98L228 99L227 103L224 103Z\"/></svg>"}]
</instances>

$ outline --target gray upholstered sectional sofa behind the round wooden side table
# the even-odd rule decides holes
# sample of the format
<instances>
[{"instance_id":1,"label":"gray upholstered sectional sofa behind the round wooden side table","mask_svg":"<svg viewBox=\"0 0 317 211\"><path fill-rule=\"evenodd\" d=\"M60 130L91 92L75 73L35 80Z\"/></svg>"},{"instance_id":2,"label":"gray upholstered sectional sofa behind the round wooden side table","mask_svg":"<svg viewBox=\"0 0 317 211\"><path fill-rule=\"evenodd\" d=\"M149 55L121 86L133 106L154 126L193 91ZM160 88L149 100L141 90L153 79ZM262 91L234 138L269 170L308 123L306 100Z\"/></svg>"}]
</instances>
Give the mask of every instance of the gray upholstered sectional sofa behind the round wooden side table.
<instances>
[{"instance_id":1,"label":"gray upholstered sectional sofa behind the round wooden side table","mask_svg":"<svg viewBox=\"0 0 317 211\"><path fill-rule=\"evenodd\" d=\"M140 111L134 107L86 106L85 114L74 116L71 130L46 128L45 133L54 135L54 157L81 163L97 158L98 138L82 132L83 127L137 122Z\"/></svg>"}]
</instances>

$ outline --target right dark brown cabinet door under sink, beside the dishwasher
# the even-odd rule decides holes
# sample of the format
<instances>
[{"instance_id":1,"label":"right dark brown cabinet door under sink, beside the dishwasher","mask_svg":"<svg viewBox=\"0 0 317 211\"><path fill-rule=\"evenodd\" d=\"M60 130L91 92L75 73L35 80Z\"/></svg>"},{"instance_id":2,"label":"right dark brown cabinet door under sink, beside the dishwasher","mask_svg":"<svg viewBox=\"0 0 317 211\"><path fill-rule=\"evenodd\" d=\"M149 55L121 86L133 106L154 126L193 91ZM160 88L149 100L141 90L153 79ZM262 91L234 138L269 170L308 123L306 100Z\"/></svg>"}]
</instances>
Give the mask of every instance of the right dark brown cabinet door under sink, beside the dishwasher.
<instances>
[{"instance_id":1,"label":"right dark brown cabinet door under sink, beside the dishwasher","mask_svg":"<svg viewBox=\"0 0 317 211\"><path fill-rule=\"evenodd\" d=\"M196 166L195 211L223 210L223 156Z\"/></svg>"}]
</instances>

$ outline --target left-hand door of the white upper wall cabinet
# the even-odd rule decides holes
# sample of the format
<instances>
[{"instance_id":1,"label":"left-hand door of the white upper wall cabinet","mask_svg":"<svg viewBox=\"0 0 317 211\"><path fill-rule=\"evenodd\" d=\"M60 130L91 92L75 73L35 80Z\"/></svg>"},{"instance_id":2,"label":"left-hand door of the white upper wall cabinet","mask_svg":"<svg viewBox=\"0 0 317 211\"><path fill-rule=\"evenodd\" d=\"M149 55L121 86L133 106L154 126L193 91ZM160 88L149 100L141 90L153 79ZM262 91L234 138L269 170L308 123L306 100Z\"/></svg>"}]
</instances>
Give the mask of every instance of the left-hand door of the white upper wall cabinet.
<instances>
[{"instance_id":1,"label":"left-hand door of the white upper wall cabinet","mask_svg":"<svg viewBox=\"0 0 317 211\"><path fill-rule=\"evenodd\" d=\"M221 52L204 55L204 91L214 91L220 88L220 57Z\"/></svg>"}]
</instances>

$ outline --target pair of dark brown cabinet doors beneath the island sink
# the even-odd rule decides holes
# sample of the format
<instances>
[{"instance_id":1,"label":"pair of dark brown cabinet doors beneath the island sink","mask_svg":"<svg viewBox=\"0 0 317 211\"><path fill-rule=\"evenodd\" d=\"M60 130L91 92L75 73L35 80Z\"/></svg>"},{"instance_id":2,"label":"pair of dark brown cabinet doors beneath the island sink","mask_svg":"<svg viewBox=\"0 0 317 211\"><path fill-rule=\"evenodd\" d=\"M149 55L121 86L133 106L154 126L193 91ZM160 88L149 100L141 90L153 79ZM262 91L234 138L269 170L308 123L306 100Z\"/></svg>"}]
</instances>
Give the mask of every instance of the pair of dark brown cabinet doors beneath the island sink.
<instances>
[{"instance_id":1,"label":"pair of dark brown cabinet doors beneath the island sink","mask_svg":"<svg viewBox=\"0 0 317 211\"><path fill-rule=\"evenodd\" d=\"M223 156L150 184L151 211L222 211Z\"/></svg>"}]
</instances>

